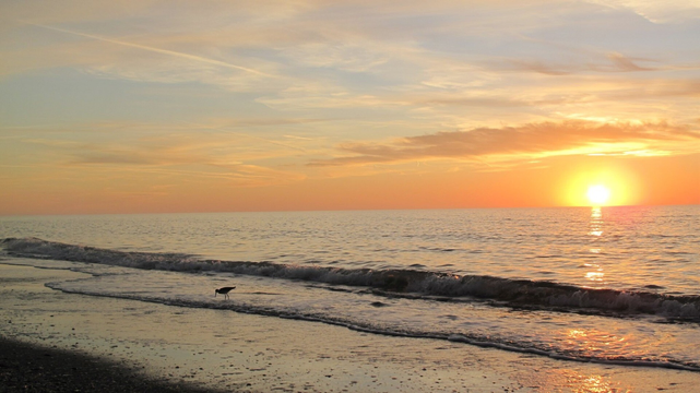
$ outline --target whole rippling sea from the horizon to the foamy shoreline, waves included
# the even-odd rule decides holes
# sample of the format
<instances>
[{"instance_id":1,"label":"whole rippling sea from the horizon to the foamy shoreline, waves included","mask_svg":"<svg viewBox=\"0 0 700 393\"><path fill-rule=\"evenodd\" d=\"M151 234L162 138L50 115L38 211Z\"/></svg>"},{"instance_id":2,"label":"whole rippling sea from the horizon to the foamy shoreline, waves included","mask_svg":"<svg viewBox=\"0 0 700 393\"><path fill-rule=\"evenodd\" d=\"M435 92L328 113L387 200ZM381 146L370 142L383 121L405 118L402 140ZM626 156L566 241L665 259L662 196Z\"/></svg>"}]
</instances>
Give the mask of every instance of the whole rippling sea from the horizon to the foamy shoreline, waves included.
<instances>
[{"instance_id":1,"label":"whole rippling sea from the horizon to the foamy shoreline, waves included","mask_svg":"<svg viewBox=\"0 0 700 393\"><path fill-rule=\"evenodd\" d=\"M48 287L700 371L700 206L0 218ZM229 298L214 289L235 286Z\"/></svg>"}]
</instances>

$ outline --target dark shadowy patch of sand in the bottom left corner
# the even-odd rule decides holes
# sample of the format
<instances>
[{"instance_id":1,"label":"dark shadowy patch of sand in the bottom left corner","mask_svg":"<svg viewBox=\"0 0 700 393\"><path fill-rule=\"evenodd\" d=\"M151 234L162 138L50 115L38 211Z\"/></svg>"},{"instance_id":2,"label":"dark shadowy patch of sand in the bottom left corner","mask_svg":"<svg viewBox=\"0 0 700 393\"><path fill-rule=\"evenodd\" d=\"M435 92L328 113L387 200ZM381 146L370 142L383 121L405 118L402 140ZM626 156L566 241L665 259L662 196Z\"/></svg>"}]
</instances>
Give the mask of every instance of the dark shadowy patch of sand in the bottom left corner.
<instances>
[{"instance_id":1,"label":"dark shadowy patch of sand in the bottom left corner","mask_svg":"<svg viewBox=\"0 0 700 393\"><path fill-rule=\"evenodd\" d=\"M206 392L111 360L0 336L0 392Z\"/></svg>"}]
</instances>

